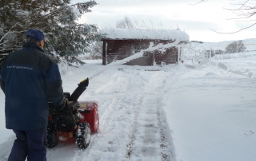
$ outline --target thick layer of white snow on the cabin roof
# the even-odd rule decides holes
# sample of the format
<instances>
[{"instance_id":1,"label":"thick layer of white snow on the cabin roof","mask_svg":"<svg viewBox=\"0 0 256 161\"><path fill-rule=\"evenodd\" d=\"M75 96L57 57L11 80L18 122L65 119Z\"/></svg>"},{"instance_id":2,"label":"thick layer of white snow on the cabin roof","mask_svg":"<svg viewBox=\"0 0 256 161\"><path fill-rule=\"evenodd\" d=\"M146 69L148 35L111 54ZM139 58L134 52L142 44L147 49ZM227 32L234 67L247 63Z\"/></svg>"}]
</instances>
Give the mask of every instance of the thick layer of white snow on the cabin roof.
<instances>
[{"instance_id":1,"label":"thick layer of white snow on the cabin roof","mask_svg":"<svg viewBox=\"0 0 256 161\"><path fill-rule=\"evenodd\" d=\"M102 29L107 39L150 39L190 41L190 36L180 29Z\"/></svg>"}]
</instances>

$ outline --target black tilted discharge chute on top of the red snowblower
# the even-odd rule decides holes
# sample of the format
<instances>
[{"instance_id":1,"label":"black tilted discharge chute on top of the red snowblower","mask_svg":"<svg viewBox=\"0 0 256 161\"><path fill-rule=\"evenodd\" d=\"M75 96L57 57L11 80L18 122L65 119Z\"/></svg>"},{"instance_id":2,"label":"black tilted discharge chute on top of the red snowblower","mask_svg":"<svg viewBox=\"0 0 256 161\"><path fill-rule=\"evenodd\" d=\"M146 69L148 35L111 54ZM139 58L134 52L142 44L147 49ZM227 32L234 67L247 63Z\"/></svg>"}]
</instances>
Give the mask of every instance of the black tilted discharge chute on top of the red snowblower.
<instances>
[{"instance_id":1,"label":"black tilted discharge chute on top of the red snowblower","mask_svg":"<svg viewBox=\"0 0 256 161\"><path fill-rule=\"evenodd\" d=\"M89 84L89 78L84 79L78 84L78 87L74 90L74 92L71 94L69 101L77 101L79 96L82 95L82 92L86 90L86 87Z\"/></svg>"}]
</instances>

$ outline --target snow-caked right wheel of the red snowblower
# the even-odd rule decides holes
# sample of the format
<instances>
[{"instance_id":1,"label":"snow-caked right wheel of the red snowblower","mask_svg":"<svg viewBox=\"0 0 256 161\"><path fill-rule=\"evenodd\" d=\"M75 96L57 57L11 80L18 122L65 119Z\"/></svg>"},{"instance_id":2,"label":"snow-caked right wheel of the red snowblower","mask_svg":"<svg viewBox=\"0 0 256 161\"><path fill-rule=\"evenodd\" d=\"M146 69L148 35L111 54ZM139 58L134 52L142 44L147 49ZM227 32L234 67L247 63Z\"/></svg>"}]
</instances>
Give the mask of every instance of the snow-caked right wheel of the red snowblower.
<instances>
[{"instance_id":1,"label":"snow-caked right wheel of the red snowblower","mask_svg":"<svg viewBox=\"0 0 256 161\"><path fill-rule=\"evenodd\" d=\"M90 143L90 124L83 122L78 124L77 141L78 147L86 149Z\"/></svg>"}]
</instances>

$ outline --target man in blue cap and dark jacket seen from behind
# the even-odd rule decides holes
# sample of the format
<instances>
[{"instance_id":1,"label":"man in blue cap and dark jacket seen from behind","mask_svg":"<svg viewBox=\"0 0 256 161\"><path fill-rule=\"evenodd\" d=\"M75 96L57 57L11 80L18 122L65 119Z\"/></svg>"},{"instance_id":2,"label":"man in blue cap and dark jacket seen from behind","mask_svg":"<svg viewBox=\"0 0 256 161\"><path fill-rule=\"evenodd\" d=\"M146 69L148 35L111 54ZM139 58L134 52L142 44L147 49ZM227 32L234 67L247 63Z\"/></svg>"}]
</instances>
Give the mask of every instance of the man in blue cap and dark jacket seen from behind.
<instances>
[{"instance_id":1,"label":"man in blue cap and dark jacket seen from behind","mask_svg":"<svg viewBox=\"0 0 256 161\"><path fill-rule=\"evenodd\" d=\"M17 139L10 161L46 161L48 100L64 107L62 79L58 65L43 51L44 34L26 32L26 44L10 53L2 63L0 85L6 96L6 128Z\"/></svg>"}]
</instances>

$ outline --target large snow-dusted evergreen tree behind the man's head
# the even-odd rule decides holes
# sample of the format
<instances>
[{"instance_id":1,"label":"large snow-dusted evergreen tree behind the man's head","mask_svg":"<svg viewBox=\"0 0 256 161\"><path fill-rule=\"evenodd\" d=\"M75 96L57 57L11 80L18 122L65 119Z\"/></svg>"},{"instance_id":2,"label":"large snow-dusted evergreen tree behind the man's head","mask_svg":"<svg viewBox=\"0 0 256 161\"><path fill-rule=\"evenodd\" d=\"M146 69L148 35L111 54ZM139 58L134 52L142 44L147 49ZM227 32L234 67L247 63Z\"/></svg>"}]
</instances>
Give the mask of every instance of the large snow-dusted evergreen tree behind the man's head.
<instances>
[{"instance_id":1,"label":"large snow-dusted evergreen tree behind the man's head","mask_svg":"<svg viewBox=\"0 0 256 161\"><path fill-rule=\"evenodd\" d=\"M28 29L45 33L44 49L58 61L80 63L76 56L90 51L90 43L102 38L98 27L80 24L96 2L70 4L70 0L0 0L0 64L6 54L22 48Z\"/></svg>"}]
</instances>

